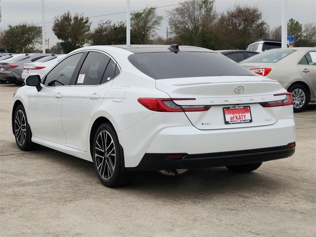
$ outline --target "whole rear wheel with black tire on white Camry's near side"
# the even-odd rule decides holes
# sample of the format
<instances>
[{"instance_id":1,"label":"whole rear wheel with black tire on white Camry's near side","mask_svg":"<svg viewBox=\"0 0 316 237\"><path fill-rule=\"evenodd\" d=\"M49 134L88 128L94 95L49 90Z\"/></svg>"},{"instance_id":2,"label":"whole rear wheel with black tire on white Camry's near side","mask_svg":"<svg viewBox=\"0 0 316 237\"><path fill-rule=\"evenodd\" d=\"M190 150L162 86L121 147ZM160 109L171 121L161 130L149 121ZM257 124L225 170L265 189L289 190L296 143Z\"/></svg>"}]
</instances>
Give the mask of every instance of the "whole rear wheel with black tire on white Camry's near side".
<instances>
[{"instance_id":1,"label":"whole rear wheel with black tire on white Camry's near side","mask_svg":"<svg viewBox=\"0 0 316 237\"><path fill-rule=\"evenodd\" d=\"M112 140L112 143L109 139ZM107 149L104 149L104 147L107 147ZM113 149L115 153L113 153ZM124 159L124 154L121 154L116 131L109 123L100 125L94 135L92 159L99 180L107 187L126 186L135 178L135 172L126 170L122 172L122 159ZM111 169L110 167L112 167L112 165L114 168Z\"/></svg>"}]
</instances>

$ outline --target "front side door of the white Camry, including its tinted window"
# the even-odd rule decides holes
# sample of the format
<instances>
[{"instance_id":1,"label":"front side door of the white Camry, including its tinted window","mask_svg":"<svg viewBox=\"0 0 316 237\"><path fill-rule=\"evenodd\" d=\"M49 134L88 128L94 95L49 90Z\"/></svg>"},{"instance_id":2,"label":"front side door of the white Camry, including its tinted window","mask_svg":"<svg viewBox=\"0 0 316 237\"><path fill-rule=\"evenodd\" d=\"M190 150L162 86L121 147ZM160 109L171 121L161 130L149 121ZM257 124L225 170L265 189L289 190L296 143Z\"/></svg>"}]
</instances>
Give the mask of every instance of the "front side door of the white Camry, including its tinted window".
<instances>
[{"instance_id":1,"label":"front side door of the white Camry, including its tinted window","mask_svg":"<svg viewBox=\"0 0 316 237\"><path fill-rule=\"evenodd\" d=\"M71 77L82 54L65 58L42 79L40 92L35 88L31 92L29 123L34 137L66 145L61 121L63 95L70 88Z\"/></svg>"}]
</instances>

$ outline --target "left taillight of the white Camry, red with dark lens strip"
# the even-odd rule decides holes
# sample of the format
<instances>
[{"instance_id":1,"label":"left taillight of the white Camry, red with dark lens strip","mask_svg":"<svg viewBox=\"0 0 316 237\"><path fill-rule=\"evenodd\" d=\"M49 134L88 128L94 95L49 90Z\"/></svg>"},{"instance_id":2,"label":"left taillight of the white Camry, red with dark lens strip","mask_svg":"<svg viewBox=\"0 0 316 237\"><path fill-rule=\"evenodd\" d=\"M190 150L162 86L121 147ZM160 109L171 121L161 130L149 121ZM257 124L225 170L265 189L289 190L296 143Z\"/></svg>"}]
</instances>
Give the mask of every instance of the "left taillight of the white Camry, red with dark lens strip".
<instances>
[{"instance_id":1,"label":"left taillight of the white Camry, red with dark lens strip","mask_svg":"<svg viewBox=\"0 0 316 237\"><path fill-rule=\"evenodd\" d=\"M137 101L145 106L147 109L156 112L197 112L197 111L208 111L210 105L177 105L173 100L195 100L194 98L181 98L181 99L170 99L170 98L138 98Z\"/></svg>"}]
</instances>

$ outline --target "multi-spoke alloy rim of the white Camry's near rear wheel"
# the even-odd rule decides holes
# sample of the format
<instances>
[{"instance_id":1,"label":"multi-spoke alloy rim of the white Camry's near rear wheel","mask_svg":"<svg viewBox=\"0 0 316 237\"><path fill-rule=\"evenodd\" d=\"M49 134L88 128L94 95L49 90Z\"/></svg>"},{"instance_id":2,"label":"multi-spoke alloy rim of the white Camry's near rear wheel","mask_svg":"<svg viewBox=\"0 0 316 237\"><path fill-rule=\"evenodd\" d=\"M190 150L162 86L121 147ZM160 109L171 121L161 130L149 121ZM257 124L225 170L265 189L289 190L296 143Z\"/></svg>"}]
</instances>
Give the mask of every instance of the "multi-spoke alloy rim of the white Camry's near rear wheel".
<instances>
[{"instance_id":1,"label":"multi-spoke alloy rim of the white Camry's near rear wheel","mask_svg":"<svg viewBox=\"0 0 316 237\"><path fill-rule=\"evenodd\" d=\"M96 167L103 179L110 179L115 169L116 155L113 138L107 131L101 131L94 147Z\"/></svg>"}]
</instances>

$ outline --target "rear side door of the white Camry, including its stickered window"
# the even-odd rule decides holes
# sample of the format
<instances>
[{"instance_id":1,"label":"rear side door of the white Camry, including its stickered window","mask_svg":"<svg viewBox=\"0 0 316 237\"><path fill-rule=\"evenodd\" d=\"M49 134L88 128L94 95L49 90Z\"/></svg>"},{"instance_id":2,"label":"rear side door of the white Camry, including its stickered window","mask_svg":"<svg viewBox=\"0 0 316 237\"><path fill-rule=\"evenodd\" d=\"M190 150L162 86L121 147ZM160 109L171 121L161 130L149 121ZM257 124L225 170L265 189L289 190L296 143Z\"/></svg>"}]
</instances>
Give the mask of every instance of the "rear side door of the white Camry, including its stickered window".
<instances>
[{"instance_id":1,"label":"rear side door of the white Camry, including its stickered window","mask_svg":"<svg viewBox=\"0 0 316 237\"><path fill-rule=\"evenodd\" d=\"M115 67L116 62L104 52L88 52L63 96L61 120L67 146L87 151L89 125L107 89L112 86Z\"/></svg>"}]
</instances>

